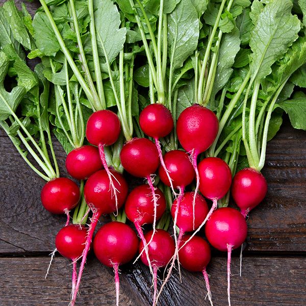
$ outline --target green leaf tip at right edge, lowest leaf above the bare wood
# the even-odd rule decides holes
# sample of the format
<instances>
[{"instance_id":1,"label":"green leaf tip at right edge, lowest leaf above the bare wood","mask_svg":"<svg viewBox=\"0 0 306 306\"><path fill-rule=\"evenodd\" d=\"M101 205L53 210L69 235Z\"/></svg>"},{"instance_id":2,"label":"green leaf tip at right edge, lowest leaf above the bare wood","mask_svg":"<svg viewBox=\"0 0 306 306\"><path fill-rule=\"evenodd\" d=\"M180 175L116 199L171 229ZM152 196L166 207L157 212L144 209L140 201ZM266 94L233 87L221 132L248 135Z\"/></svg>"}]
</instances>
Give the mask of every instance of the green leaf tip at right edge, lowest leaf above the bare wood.
<instances>
[{"instance_id":1,"label":"green leaf tip at right edge, lowest leaf above the bare wood","mask_svg":"<svg viewBox=\"0 0 306 306\"><path fill-rule=\"evenodd\" d=\"M283 109L294 129L306 130L306 95L283 101L275 105Z\"/></svg>"}]
</instances>

